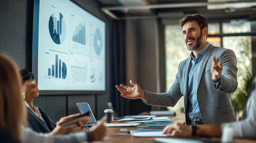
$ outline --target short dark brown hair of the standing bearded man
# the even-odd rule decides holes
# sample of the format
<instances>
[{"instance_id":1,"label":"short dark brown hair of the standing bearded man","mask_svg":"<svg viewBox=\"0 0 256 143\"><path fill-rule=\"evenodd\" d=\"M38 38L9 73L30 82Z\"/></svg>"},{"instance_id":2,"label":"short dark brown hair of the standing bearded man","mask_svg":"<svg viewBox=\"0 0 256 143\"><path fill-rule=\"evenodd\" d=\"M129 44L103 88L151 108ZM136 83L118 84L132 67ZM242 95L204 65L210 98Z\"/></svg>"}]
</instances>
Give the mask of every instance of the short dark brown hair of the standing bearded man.
<instances>
[{"instance_id":1,"label":"short dark brown hair of the standing bearded man","mask_svg":"<svg viewBox=\"0 0 256 143\"><path fill-rule=\"evenodd\" d=\"M184 17L180 20L180 26L183 27L185 23L190 22L190 21L196 21L198 23L198 26L200 27L201 31L205 27L208 27L207 18L200 14L187 15L186 17Z\"/></svg>"}]
</instances>

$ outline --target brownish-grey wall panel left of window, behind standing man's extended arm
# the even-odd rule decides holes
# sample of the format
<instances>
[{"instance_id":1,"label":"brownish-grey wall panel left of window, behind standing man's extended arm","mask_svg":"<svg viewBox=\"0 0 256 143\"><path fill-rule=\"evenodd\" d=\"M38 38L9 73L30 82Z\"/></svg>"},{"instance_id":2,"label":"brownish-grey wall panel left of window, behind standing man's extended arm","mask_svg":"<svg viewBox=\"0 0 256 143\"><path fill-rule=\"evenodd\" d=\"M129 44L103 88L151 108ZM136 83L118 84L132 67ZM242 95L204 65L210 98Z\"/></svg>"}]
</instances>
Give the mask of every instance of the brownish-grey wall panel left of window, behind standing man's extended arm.
<instances>
[{"instance_id":1,"label":"brownish-grey wall panel left of window, behind standing man's extended arm","mask_svg":"<svg viewBox=\"0 0 256 143\"><path fill-rule=\"evenodd\" d=\"M142 89L157 92L158 52L156 19L126 21L127 85L129 79L137 82ZM151 106L141 100L131 100L131 114L150 111Z\"/></svg>"}]
</instances>

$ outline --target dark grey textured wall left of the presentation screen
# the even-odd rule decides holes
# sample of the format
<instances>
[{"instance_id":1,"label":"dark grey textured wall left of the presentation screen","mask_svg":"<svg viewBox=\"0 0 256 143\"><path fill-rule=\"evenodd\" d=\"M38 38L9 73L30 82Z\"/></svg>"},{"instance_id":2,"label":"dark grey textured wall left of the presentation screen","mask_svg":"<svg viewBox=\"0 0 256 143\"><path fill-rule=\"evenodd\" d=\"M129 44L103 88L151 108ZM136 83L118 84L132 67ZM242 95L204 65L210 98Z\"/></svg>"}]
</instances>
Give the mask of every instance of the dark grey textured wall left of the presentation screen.
<instances>
[{"instance_id":1,"label":"dark grey textured wall left of the presentation screen","mask_svg":"<svg viewBox=\"0 0 256 143\"><path fill-rule=\"evenodd\" d=\"M26 67L26 8L23 0L0 2L0 52Z\"/></svg>"}]
</instances>

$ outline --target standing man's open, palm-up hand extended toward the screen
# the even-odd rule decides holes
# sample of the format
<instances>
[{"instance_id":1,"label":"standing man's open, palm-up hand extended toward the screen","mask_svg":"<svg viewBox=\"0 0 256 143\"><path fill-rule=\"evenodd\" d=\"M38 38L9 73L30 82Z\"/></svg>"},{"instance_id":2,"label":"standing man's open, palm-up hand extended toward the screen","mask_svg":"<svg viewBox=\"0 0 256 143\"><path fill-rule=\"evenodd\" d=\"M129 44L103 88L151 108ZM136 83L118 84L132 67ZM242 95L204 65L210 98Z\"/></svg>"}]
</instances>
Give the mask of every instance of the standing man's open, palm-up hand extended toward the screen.
<instances>
[{"instance_id":1,"label":"standing man's open, palm-up hand extended toward the screen","mask_svg":"<svg viewBox=\"0 0 256 143\"><path fill-rule=\"evenodd\" d=\"M131 100L136 100L136 99L145 100L146 95L144 91L140 88L140 85L138 85L138 83L135 83L132 80L129 80L129 82L133 85L132 88L123 84L121 84L120 86L116 85L116 88L118 89L118 91L121 92L121 96L124 98L129 98Z\"/></svg>"}]
</instances>

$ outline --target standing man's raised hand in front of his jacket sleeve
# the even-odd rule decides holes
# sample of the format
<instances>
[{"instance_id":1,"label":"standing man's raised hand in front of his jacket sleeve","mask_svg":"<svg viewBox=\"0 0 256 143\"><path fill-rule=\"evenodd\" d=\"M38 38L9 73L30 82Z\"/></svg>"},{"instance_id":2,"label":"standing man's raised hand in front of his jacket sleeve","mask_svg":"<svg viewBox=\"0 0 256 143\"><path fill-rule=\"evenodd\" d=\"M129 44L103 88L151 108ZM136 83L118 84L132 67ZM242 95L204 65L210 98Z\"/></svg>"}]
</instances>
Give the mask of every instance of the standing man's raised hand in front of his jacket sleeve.
<instances>
[{"instance_id":1,"label":"standing man's raised hand in front of his jacket sleeve","mask_svg":"<svg viewBox=\"0 0 256 143\"><path fill-rule=\"evenodd\" d=\"M212 74L212 80L214 82L218 82L220 80L220 74L222 71L222 63L221 61L218 62L215 57L212 57L212 67L211 67L211 74Z\"/></svg>"}]
</instances>

